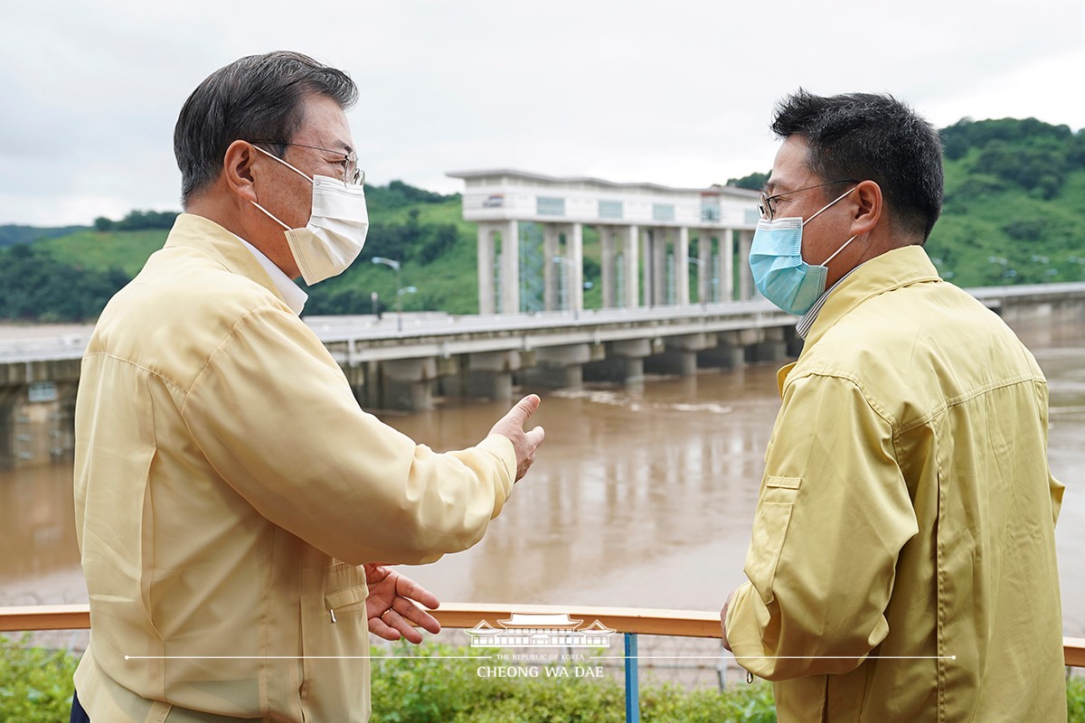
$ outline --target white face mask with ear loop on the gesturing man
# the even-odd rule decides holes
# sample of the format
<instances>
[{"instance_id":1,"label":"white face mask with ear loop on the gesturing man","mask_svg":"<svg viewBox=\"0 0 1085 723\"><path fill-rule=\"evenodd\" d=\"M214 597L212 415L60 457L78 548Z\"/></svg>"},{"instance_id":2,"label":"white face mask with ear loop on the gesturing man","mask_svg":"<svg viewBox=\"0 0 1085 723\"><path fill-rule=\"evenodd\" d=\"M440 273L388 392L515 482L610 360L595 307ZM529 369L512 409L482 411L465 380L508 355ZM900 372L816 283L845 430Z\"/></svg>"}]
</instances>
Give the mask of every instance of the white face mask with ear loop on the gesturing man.
<instances>
[{"instance_id":1,"label":"white face mask with ear loop on the gesturing man","mask_svg":"<svg viewBox=\"0 0 1085 723\"><path fill-rule=\"evenodd\" d=\"M366 233L369 231L366 190L360 185L347 186L329 176L309 178L282 158L259 146L253 147L312 182L312 214L304 229L291 229L258 203L252 202L285 230L290 253L305 283L312 285L343 273L366 245Z\"/></svg>"}]
</instances>

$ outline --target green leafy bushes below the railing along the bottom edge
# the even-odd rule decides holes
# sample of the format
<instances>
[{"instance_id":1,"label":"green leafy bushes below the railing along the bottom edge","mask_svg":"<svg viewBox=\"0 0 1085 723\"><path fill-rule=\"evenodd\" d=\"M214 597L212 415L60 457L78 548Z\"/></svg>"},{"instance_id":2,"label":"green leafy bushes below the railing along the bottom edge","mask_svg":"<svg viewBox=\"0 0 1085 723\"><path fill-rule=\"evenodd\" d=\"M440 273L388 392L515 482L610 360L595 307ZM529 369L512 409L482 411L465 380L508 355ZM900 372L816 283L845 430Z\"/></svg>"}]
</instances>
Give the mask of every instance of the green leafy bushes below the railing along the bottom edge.
<instances>
[{"instance_id":1,"label":"green leafy bushes below the railing along the bottom edge","mask_svg":"<svg viewBox=\"0 0 1085 723\"><path fill-rule=\"evenodd\" d=\"M617 681L480 677L480 660L443 660L463 648L400 645L373 648L372 723L620 723L625 692ZM472 651L471 655L485 654ZM390 656L409 656L393 658ZM0 635L0 721L66 723L76 658ZM557 664L557 663L551 663ZM1085 676L1067 681L1069 723L1085 723ZM640 688L644 723L774 723L773 688L739 684L727 692Z\"/></svg>"}]
</instances>

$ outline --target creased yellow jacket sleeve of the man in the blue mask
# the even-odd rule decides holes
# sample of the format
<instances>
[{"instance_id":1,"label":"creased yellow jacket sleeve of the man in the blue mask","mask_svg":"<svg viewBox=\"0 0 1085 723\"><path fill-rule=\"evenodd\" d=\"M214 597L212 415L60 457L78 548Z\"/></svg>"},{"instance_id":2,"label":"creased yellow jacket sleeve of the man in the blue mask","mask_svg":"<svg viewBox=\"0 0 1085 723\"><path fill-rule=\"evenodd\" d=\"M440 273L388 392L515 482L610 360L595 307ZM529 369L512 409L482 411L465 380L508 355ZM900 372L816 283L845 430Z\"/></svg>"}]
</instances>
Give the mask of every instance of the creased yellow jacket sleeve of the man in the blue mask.
<instances>
[{"instance_id":1,"label":"creased yellow jacket sleeve of the man in the blue mask","mask_svg":"<svg viewBox=\"0 0 1085 723\"><path fill-rule=\"evenodd\" d=\"M850 379L789 382L744 571L738 662L768 680L843 673L884 640L897 556L918 532L892 425ZM833 657L828 657L833 656Z\"/></svg>"}]
</instances>

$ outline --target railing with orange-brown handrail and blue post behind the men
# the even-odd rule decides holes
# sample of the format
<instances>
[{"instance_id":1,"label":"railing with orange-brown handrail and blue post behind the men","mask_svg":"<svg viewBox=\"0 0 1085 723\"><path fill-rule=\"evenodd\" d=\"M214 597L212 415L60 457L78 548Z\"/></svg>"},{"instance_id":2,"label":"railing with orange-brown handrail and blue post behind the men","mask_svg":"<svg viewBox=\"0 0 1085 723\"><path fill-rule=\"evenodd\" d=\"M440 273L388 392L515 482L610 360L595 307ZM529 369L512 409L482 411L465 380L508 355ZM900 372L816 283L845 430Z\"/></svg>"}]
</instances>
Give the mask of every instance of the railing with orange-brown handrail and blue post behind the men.
<instances>
[{"instance_id":1,"label":"railing with orange-brown handrail and blue post behind the men","mask_svg":"<svg viewBox=\"0 0 1085 723\"><path fill-rule=\"evenodd\" d=\"M513 614L593 619L622 633L625 637L625 716L628 723L640 721L638 635L720 637L719 614L699 610L444 603L441 609L433 611L441 625L449 629L472 629L481 622L497 628L502 619ZM0 607L0 632L89 628L89 605ZM1085 668L1085 637L1064 637L1062 650L1068 668Z\"/></svg>"}]
</instances>

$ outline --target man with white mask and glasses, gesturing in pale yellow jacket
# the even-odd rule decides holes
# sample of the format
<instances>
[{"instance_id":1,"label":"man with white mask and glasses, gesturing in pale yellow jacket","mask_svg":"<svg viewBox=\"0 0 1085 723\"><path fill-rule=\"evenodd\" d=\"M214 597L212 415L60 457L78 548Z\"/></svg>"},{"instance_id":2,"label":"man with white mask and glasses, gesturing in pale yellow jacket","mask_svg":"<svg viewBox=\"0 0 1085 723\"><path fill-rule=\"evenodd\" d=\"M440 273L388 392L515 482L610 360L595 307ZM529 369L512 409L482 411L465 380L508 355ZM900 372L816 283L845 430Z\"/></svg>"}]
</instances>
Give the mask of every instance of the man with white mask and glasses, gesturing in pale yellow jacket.
<instances>
[{"instance_id":1,"label":"man with white mask and glasses, gesturing in pale yellow jacket","mask_svg":"<svg viewBox=\"0 0 1085 723\"><path fill-rule=\"evenodd\" d=\"M368 631L439 628L384 564L475 544L542 441L533 396L474 448L416 444L298 319L292 279L340 273L365 241L356 95L279 52L181 111L187 212L103 311L76 403L84 720L366 721Z\"/></svg>"}]
</instances>

